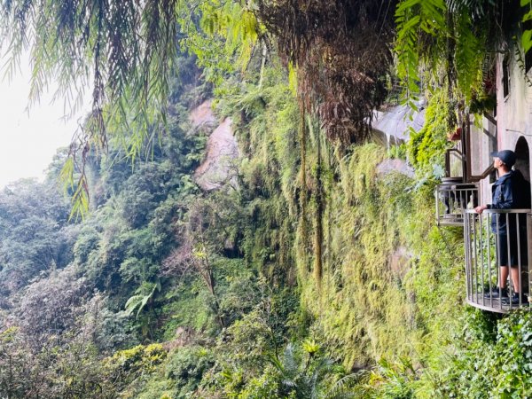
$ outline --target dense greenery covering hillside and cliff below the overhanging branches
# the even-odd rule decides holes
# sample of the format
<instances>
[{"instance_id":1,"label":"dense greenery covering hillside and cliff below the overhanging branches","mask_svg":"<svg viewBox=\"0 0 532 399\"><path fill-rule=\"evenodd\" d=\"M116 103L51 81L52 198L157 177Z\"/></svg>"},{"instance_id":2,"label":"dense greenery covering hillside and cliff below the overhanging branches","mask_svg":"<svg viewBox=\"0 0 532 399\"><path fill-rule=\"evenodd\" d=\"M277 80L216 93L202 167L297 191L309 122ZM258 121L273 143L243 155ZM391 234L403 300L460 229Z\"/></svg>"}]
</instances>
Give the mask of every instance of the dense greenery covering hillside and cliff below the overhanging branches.
<instances>
[{"instance_id":1,"label":"dense greenery covering hillside and cliff below the overhanging branches","mask_svg":"<svg viewBox=\"0 0 532 399\"><path fill-rule=\"evenodd\" d=\"M311 118L301 142L279 71L220 88L241 159L219 190L194 184L205 136L185 122L208 92L176 84L176 120L149 161L132 166L120 147L91 155L90 217L67 223L51 182L2 192L0 392L528 395L528 314L468 311L460 234L427 223L445 130L411 142L417 177L379 171L387 153L342 156Z\"/></svg>"}]
</instances>

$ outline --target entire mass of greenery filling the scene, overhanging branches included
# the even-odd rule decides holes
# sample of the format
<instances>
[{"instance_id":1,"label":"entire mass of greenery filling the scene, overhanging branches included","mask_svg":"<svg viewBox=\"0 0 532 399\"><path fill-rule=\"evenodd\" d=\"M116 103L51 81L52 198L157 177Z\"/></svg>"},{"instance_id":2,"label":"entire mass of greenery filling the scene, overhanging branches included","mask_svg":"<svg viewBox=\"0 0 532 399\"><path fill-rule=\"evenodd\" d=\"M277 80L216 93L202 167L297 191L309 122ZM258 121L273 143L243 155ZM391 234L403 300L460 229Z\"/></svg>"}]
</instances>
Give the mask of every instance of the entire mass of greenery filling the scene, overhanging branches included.
<instances>
[{"instance_id":1,"label":"entire mass of greenery filling the scene, overhanging branches included","mask_svg":"<svg viewBox=\"0 0 532 399\"><path fill-rule=\"evenodd\" d=\"M30 101L93 90L44 182L0 192L0 397L532 395L529 313L465 306L462 231L432 222L447 132L532 44L506 3L0 4ZM419 97L422 129L372 143ZM226 118L239 156L202 189Z\"/></svg>"}]
</instances>

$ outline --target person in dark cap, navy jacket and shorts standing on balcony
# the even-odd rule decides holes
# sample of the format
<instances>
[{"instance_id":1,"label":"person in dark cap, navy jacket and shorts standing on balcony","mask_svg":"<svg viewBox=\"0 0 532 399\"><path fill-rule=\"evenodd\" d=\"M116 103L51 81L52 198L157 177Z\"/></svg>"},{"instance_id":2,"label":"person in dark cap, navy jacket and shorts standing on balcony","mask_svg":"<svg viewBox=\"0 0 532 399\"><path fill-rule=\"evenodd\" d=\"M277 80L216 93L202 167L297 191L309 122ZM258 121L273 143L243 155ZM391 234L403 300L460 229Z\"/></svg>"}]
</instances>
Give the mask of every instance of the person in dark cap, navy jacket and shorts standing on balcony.
<instances>
[{"instance_id":1,"label":"person in dark cap, navy jacket and shorts standing on balcony","mask_svg":"<svg viewBox=\"0 0 532 399\"><path fill-rule=\"evenodd\" d=\"M530 207L530 184L519 170L512 170L516 160L515 153L511 150L503 150L491 153L491 156L493 167L497 169L498 174L497 182L491 186L492 203L475 207L475 212L481 214L485 209L528 209ZM497 287L485 293L485 297L500 298L505 304L511 302L512 305L517 305L520 301L528 302L527 297L521 295L519 274L519 265L521 270L524 269L523 266L528 267L527 223L526 218L521 218L521 216L517 223L517 214L510 214L508 217L509 219L506 219L505 214L493 215L491 220L491 230L496 234L497 239L497 265L500 272ZM508 225L506 220L509 221ZM510 248L508 248L508 242ZM510 254L508 254L508 249L510 249ZM509 264L510 267L508 267ZM506 288L509 272L513 286L512 298L508 297Z\"/></svg>"}]
</instances>

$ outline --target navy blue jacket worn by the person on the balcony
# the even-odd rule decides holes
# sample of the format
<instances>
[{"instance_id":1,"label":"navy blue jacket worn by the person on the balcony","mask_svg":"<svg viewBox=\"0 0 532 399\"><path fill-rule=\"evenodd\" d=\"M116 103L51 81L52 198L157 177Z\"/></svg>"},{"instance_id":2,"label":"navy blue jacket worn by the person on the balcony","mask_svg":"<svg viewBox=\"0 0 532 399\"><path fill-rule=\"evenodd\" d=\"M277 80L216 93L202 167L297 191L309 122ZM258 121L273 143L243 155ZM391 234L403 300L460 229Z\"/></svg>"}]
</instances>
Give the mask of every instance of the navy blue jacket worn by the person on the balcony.
<instances>
[{"instance_id":1,"label":"navy blue jacket worn by the person on the balcony","mask_svg":"<svg viewBox=\"0 0 532 399\"><path fill-rule=\"evenodd\" d=\"M528 209L530 207L530 184L519 170L511 170L491 186L492 203L489 209ZM497 231L498 216L498 231ZM516 228L516 216L509 215L510 227ZM522 216L521 216L522 217ZM520 217L520 228L526 227L526 217ZM498 234L506 232L506 215L493 215L491 229Z\"/></svg>"}]
</instances>

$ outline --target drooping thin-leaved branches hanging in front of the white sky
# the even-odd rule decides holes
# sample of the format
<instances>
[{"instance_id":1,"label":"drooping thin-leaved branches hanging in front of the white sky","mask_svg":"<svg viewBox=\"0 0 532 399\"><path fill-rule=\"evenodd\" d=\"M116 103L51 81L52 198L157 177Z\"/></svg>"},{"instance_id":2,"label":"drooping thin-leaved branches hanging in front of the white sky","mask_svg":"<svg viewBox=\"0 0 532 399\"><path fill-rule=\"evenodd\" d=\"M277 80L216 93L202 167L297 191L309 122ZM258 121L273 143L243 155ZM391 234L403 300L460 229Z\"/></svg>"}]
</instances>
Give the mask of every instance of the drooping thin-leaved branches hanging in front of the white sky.
<instances>
[{"instance_id":1,"label":"drooping thin-leaved branches hanging in front of the white sky","mask_svg":"<svg viewBox=\"0 0 532 399\"><path fill-rule=\"evenodd\" d=\"M220 50L216 35L232 29L235 21L240 24L231 30L233 42L246 43L246 37L253 40L253 35L244 37L238 30L254 29L246 22L249 19L240 18L238 4L234 4L236 10L222 4L218 9L225 12L224 17L213 20L213 12L204 11L216 11L216 4L176 0L15 0L0 4L5 73L16 73L20 55L29 51L30 102L38 101L43 89L57 81L55 98L64 99L74 111L81 105L83 92L91 90L91 111L74 137L62 174L74 186L74 176L80 172L74 191L77 210L89 200L84 166L91 148L106 150L108 140L116 139L135 158L152 148L157 135L167 128L169 78L180 49L192 49L205 60L213 53L209 47ZM197 29L201 15L207 14L210 42ZM227 52L231 57L234 49ZM230 65L225 62L224 67Z\"/></svg>"}]
</instances>

